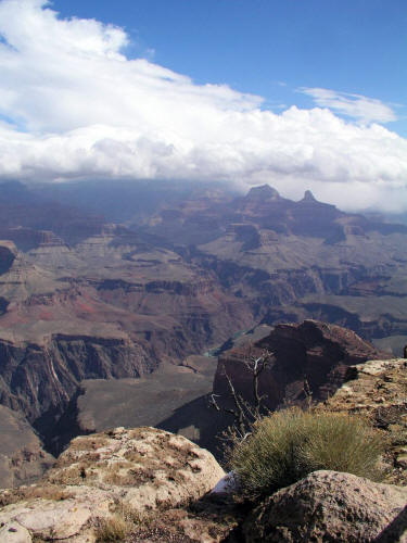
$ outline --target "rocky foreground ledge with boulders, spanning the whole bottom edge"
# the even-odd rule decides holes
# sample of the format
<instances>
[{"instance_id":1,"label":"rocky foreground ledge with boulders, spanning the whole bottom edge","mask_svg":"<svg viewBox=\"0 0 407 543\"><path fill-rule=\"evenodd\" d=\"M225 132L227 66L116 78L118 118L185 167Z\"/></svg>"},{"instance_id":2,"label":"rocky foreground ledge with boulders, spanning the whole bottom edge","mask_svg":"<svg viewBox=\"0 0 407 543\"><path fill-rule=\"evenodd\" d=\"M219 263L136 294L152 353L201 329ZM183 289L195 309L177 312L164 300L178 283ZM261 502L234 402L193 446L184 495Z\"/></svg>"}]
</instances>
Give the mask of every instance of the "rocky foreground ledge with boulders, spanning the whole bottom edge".
<instances>
[{"instance_id":1,"label":"rocky foreground ledge with boulders, spanning the whole bottom edge","mask_svg":"<svg viewBox=\"0 0 407 543\"><path fill-rule=\"evenodd\" d=\"M405 487L322 470L243 506L219 483L222 476L209 453L153 428L76 438L41 481L0 492L0 538L4 543L406 541ZM216 493L207 494L215 487Z\"/></svg>"}]
</instances>

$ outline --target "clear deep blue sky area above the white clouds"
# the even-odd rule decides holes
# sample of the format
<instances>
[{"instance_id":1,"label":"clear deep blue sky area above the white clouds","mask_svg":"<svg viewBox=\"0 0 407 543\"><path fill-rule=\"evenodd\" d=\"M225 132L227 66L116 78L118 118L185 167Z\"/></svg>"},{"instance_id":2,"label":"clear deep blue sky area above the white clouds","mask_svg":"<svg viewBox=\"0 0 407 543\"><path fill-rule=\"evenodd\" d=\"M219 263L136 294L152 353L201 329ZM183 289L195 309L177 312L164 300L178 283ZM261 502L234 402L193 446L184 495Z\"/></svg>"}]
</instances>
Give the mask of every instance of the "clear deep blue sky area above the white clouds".
<instances>
[{"instance_id":1,"label":"clear deep blue sky area above the white clouds","mask_svg":"<svg viewBox=\"0 0 407 543\"><path fill-rule=\"evenodd\" d=\"M313 106L302 87L389 103L407 136L406 0L56 0L66 16L126 28L128 54L260 94L264 106Z\"/></svg>"}]
</instances>

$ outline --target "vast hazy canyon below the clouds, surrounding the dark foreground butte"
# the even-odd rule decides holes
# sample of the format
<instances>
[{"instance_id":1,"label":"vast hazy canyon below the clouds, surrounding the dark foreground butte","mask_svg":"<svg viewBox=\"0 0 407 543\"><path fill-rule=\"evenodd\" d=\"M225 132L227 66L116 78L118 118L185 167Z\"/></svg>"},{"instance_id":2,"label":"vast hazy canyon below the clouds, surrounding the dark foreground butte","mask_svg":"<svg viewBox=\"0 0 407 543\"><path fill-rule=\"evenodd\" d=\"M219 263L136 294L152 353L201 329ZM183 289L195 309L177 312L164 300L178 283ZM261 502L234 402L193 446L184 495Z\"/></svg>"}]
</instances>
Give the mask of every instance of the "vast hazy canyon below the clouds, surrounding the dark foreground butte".
<instances>
[{"instance_id":1,"label":"vast hazy canyon below the clouds, surrounding the dark foreground butte","mask_svg":"<svg viewBox=\"0 0 407 543\"><path fill-rule=\"evenodd\" d=\"M225 393L218 356L260 329L345 326L376 344L371 358L407 343L405 225L269 186L155 197L144 184L122 200L100 187L81 205L68 187L0 187L0 404L47 451L120 417L213 447L205 397ZM331 369L327 391L344 372ZM298 376L284 381L292 395Z\"/></svg>"}]
</instances>

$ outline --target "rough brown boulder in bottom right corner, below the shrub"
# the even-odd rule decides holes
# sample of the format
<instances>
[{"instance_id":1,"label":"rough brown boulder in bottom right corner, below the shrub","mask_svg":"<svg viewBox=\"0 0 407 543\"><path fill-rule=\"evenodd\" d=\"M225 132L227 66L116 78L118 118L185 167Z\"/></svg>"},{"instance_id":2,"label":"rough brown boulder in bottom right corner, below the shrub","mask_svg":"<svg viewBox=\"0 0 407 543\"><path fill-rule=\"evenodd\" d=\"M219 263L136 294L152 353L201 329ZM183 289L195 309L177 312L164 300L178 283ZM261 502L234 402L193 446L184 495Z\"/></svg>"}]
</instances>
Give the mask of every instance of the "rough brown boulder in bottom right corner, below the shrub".
<instances>
[{"instance_id":1,"label":"rough brown boulder in bottom right corner, below the shrub","mask_svg":"<svg viewBox=\"0 0 407 543\"><path fill-rule=\"evenodd\" d=\"M244 523L247 543L406 541L407 489L315 471L282 489Z\"/></svg>"}]
</instances>

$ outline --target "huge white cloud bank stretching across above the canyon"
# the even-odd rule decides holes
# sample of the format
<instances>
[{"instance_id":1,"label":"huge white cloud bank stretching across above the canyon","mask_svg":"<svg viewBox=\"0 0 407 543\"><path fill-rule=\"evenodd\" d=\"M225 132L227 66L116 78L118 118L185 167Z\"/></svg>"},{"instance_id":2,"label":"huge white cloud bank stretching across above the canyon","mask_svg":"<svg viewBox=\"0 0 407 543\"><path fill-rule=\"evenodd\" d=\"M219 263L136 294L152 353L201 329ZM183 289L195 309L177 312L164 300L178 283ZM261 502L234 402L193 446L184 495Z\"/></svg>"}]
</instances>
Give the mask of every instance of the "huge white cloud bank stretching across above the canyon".
<instances>
[{"instance_id":1,"label":"huge white cloud bank stretching across above the canyon","mask_svg":"<svg viewBox=\"0 0 407 543\"><path fill-rule=\"evenodd\" d=\"M266 181L330 201L346 184L347 207L383 194L407 206L407 140L345 122L333 99L267 111L260 97L128 59L122 28L62 20L43 0L0 1L0 177ZM379 113L369 118L389 121Z\"/></svg>"}]
</instances>

